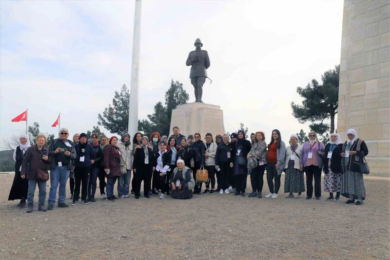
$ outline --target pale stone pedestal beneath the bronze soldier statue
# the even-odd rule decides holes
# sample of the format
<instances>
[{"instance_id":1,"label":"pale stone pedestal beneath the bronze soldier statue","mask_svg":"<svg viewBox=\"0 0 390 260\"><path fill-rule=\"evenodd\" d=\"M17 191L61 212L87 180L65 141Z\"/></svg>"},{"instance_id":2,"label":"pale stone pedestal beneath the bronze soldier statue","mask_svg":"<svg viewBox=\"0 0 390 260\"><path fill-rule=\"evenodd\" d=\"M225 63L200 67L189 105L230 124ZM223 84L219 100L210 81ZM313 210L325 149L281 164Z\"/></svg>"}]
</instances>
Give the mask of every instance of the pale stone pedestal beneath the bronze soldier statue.
<instances>
[{"instance_id":1,"label":"pale stone pedestal beneath the bronze soldier statue","mask_svg":"<svg viewBox=\"0 0 390 260\"><path fill-rule=\"evenodd\" d=\"M220 106L198 102L179 105L172 110L170 135L173 135L174 126L178 126L180 134L186 137L199 133L202 140L206 133L212 133L214 140L215 135L225 133Z\"/></svg>"}]
</instances>

